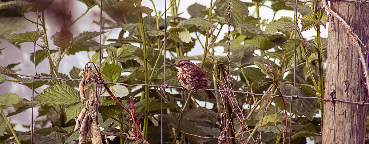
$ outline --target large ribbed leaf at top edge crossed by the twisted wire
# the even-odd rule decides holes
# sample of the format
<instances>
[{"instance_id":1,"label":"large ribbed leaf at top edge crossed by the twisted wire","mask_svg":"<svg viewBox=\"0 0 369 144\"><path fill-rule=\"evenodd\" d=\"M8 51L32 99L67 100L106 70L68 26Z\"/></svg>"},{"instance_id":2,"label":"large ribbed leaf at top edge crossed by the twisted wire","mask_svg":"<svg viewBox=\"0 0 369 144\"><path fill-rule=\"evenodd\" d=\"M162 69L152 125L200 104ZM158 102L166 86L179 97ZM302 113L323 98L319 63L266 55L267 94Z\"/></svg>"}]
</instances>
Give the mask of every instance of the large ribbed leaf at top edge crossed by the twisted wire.
<instances>
[{"instance_id":1,"label":"large ribbed leaf at top edge crossed by the twisted wire","mask_svg":"<svg viewBox=\"0 0 369 144\"><path fill-rule=\"evenodd\" d=\"M228 13L228 0L217 0L215 6L222 17L226 17ZM248 6L240 0L232 0L233 8L231 10L230 23L233 27L237 27L238 24L244 23L249 15Z\"/></svg>"}]
</instances>

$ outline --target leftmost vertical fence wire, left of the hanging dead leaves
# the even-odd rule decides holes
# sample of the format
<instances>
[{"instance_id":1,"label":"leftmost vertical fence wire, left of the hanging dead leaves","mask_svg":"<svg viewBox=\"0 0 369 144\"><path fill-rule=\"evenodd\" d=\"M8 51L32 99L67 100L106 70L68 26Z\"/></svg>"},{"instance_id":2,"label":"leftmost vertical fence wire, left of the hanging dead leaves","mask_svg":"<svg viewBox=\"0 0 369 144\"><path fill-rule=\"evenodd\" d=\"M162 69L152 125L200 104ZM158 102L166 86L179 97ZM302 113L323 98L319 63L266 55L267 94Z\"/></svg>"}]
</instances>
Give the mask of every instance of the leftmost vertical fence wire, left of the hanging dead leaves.
<instances>
[{"instance_id":1,"label":"leftmost vertical fence wire, left of the hanging dead leaves","mask_svg":"<svg viewBox=\"0 0 369 144\"><path fill-rule=\"evenodd\" d=\"M38 1L37 1L37 22L36 22L36 31L38 31ZM33 60L35 63L35 76L33 77L32 82L32 106L31 106L31 144L33 144L33 109L34 109L34 103L33 103L33 96L35 95L35 78L37 76L37 64L36 64L36 43L33 45Z\"/></svg>"}]
</instances>

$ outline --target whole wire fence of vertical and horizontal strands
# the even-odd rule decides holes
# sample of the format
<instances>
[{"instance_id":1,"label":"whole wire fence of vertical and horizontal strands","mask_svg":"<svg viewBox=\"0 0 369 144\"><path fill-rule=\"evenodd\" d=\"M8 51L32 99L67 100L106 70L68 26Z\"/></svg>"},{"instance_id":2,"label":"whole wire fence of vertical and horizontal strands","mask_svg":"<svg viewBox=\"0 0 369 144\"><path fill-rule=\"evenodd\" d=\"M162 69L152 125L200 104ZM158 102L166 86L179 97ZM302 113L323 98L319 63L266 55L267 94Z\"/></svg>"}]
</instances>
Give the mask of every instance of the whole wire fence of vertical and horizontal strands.
<instances>
[{"instance_id":1,"label":"whole wire fence of vertical and horizontal strands","mask_svg":"<svg viewBox=\"0 0 369 144\"><path fill-rule=\"evenodd\" d=\"M363 4L367 4L369 3L368 0L328 0L328 1L351 1L351 2L361 2ZM100 49L99 49L99 72L101 71L101 32L102 32L102 0L100 1ZM160 104L161 104L161 115L160 115L160 119L161 119L161 143L163 143L163 127L162 127L162 96L163 96L163 92L165 92L165 89L167 88L182 88L181 86L170 86L170 85L167 85L166 84L166 39L167 39L167 33L166 33L166 29L167 29L167 21L166 21L166 8L167 8L167 4L166 4L166 0L165 0L165 12L164 12L164 51L163 51L163 58L164 58L164 69L163 69L163 72L164 72L164 76L163 76L163 85L149 85L149 84L135 84L135 85L130 85L130 84L127 84L127 83L115 83L115 82L105 82L105 81L102 81L102 80L96 80L96 81L93 81L93 82L96 82L96 84L101 84L101 83L107 83L107 84L114 84L114 85L124 85L124 86L130 86L130 87L134 87L134 86L149 86L149 87L154 87L154 88L161 88L161 99L160 99ZM227 70L227 75L229 76L230 72L229 72L229 68L230 68L230 30L231 30L231 27L230 27L230 11L232 10L232 1L230 0L229 1L229 7L228 7L228 14L227 14L227 17L229 18L228 19L228 42L227 42L227 62L228 62L228 70ZM297 29L297 0L296 0L296 11L295 11L295 28ZM38 7L37 7L38 8ZM38 9L37 9L37 24L36 24L36 31L38 31L38 22L39 22L39 12L38 12ZM297 32L295 32L295 47L294 47L294 71L293 71L293 95L275 95L275 94L272 94L272 96L275 96L275 97L289 97L289 98L292 98L292 99L318 99L318 100L324 100L324 101L331 101L332 103L335 103L335 102L341 102L341 103L351 103L351 104L358 104L358 105L369 105L369 103L365 103L365 101L359 101L359 102L351 102L351 101L346 101L346 100L339 100L339 99L335 99L335 92L330 92L330 99L322 99L322 98L319 98L319 97L310 97L310 96L299 96L299 95L296 95L296 36ZM205 49L207 49L205 47ZM35 51L36 51L36 44L34 45L34 54L35 54ZM36 55L34 55L34 62L36 62ZM34 96L34 91L35 91L35 88L34 88L34 84L35 84L35 79L57 79L57 80L63 80L63 81L80 81L82 79L62 79L62 78L55 78L55 77L45 77L45 76L40 76L37 74L37 65L35 63L34 65L34 68L35 68L35 75L24 75L24 74L18 74L18 73L4 73L4 72L0 72L1 74L4 74L4 75L17 75L17 76L24 76L24 77L28 77L28 78L33 78L33 82L32 82L32 97ZM163 91L164 90L164 91ZM199 89L199 90L212 90L212 91L218 91L218 92L223 92L225 90L222 90L222 89ZM243 93L243 94L247 94L247 95L256 95L256 96L264 96L266 95L265 93L252 93L252 92L245 92L245 91L239 91L239 90L232 90L232 92L234 93ZM97 89L96 89L96 93L97 93ZM291 103L291 106L292 106L292 99L290 101ZM97 107L96 107L97 108ZM34 119L33 119L33 109L34 109L34 105L33 105L33 99L32 99L32 111L31 111L31 121L32 121L32 124L31 124L31 143L33 144L33 123L34 123ZM290 107L290 109L292 109L292 107ZM96 114L97 114L97 110L96 110ZM292 114L292 113L291 113ZM292 117L292 116L291 116ZM291 121L290 121L290 127L291 129ZM291 137L291 131L289 131L290 133L290 137ZM185 133L182 131L182 133ZM189 133L186 133L186 134L189 134ZM189 135L193 135L193 134L189 134ZM196 136L196 135L193 135L193 136ZM205 138L205 137L204 137ZM206 138L213 138L213 137L206 137ZM291 140L291 139L290 139ZM290 141L291 143L291 141Z\"/></svg>"}]
</instances>

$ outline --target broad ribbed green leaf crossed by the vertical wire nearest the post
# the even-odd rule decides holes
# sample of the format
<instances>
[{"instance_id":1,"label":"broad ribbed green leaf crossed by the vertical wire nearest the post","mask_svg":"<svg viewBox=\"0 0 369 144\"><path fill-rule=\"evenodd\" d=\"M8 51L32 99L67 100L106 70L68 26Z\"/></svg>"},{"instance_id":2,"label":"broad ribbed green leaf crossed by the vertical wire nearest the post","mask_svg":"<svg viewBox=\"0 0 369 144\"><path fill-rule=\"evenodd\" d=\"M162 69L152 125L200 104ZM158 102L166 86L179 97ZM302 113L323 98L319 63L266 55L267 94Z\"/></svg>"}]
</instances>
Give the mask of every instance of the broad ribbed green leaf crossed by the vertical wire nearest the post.
<instances>
[{"instance_id":1,"label":"broad ribbed green leaf crossed by the vertical wire nearest the post","mask_svg":"<svg viewBox=\"0 0 369 144\"><path fill-rule=\"evenodd\" d=\"M293 64L294 56L294 40L290 39L283 44L283 53L286 56L286 62ZM310 57L311 53L317 52L317 46L314 42L308 41L305 38L303 40L296 40L296 62L301 62Z\"/></svg>"}]
</instances>

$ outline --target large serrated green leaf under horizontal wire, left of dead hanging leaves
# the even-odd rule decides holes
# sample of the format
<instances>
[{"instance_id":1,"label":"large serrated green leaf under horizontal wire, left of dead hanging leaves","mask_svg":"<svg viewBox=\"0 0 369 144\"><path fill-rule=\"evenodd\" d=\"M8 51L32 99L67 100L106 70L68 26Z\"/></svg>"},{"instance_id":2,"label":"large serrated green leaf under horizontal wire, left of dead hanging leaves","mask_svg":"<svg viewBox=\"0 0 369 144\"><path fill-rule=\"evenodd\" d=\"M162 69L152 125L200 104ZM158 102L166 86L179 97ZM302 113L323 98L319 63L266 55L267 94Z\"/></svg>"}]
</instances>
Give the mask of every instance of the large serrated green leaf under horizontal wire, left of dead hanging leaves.
<instances>
[{"instance_id":1,"label":"large serrated green leaf under horizontal wire, left of dead hanging leaves","mask_svg":"<svg viewBox=\"0 0 369 144\"><path fill-rule=\"evenodd\" d=\"M48 106L80 102L79 92L65 84L50 86L33 99Z\"/></svg>"}]
</instances>

